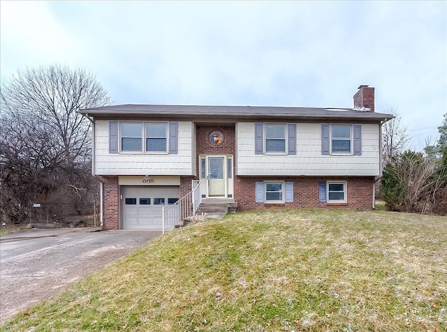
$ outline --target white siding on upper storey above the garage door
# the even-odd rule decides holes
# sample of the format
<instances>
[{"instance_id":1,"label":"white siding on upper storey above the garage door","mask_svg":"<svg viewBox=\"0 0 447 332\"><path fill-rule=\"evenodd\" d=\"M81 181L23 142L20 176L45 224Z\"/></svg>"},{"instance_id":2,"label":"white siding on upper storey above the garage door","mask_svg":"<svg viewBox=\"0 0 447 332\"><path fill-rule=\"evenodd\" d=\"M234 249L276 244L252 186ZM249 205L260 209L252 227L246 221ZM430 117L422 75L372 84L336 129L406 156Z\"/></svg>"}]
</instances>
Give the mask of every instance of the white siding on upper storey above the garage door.
<instances>
[{"instance_id":1,"label":"white siding on upper storey above the garage door","mask_svg":"<svg viewBox=\"0 0 447 332\"><path fill-rule=\"evenodd\" d=\"M136 121L135 121L136 122ZM124 123L124 122L123 122ZM141 122L142 123L142 122ZM109 123L95 121L94 174L96 175L195 175L193 123L178 122L178 153L109 152ZM143 136L144 137L144 136ZM142 149L145 149L143 146ZM141 150L142 150L141 149Z\"/></svg>"}]
</instances>

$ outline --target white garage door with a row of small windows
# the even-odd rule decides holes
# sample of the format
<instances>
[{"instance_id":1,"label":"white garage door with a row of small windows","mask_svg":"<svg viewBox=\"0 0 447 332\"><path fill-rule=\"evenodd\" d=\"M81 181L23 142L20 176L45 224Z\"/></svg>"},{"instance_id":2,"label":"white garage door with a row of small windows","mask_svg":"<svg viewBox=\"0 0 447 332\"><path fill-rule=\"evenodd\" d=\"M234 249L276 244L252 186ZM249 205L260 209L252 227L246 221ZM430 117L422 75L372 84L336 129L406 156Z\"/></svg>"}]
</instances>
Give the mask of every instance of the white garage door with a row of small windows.
<instances>
[{"instance_id":1,"label":"white garage door with a row of small windows","mask_svg":"<svg viewBox=\"0 0 447 332\"><path fill-rule=\"evenodd\" d=\"M178 186L122 188L123 229L161 229L163 206L179 199Z\"/></svg>"}]
</instances>

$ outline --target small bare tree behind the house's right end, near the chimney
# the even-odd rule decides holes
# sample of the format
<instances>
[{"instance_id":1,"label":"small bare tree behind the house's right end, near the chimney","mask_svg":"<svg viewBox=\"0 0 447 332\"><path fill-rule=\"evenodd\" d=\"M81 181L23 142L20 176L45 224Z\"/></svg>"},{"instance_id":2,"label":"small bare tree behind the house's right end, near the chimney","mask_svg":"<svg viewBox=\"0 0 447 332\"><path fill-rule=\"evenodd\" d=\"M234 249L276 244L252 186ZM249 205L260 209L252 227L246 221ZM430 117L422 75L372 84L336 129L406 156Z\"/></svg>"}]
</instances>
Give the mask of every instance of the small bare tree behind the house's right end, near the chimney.
<instances>
[{"instance_id":1,"label":"small bare tree behind the house's right end, near the chimney","mask_svg":"<svg viewBox=\"0 0 447 332\"><path fill-rule=\"evenodd\" d=\"M402 126L399 112L394 108L386 110L387 114L393 114L394 119L382 125L382 154L383 166L390 163L391 158L402 153L409 140L408 130Z\"/></svg>"}]
</instances>

